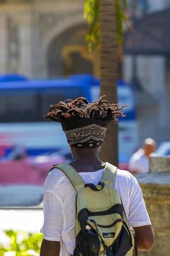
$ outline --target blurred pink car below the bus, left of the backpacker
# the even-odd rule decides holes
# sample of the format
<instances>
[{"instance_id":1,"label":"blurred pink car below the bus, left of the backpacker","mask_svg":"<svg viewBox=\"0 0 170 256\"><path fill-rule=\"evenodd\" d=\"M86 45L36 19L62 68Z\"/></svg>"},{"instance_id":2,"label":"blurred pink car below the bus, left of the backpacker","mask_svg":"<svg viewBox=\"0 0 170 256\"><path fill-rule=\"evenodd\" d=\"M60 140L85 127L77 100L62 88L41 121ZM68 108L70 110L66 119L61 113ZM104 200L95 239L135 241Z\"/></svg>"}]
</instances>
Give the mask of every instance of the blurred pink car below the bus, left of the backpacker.
<instances>
[{"instance_id":1,"label":"blurred pink car below the bus, left of the backpacker","mask_svg":"<svg viewBox=\"0 0 170 256\"><path fill-rule=\"evenodd\" d=\"M43 186L52 165L65 162L65 157L25 157L22 160L0 161L0 185L27 184Z\"/></svg>"}]
</instances>

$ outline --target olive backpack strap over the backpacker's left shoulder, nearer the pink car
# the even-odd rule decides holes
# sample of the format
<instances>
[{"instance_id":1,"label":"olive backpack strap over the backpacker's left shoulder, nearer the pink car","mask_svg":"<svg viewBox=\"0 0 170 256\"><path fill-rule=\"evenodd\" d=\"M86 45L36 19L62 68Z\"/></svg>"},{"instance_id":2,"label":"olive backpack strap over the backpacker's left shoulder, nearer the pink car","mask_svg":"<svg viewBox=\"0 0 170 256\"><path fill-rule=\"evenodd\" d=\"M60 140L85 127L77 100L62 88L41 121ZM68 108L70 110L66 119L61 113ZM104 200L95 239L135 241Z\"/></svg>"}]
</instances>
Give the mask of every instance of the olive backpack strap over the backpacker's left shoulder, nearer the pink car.
<instances>
[{"instance_id":1,"label":"olive backpack strap over the backpacker's left shoulder, nearer the pink car","mask_svg":"<svg viewBox=\"0 0 170 256\"><path fill-rule=\"evenodd\" d=\"M85 182L82 179L82 177L68 163L57 164L57 165L53 166L53 168L51 168L51 170L54 169L54 168L59 169L60 171L62 171L68 177L68 179L70 180L70 182L74 186L74 189L76 189L77 192L80 189L83 189L85 187ZM51 170L50 170L50 172L51 172Z\"/></svg>"}]
</instances>

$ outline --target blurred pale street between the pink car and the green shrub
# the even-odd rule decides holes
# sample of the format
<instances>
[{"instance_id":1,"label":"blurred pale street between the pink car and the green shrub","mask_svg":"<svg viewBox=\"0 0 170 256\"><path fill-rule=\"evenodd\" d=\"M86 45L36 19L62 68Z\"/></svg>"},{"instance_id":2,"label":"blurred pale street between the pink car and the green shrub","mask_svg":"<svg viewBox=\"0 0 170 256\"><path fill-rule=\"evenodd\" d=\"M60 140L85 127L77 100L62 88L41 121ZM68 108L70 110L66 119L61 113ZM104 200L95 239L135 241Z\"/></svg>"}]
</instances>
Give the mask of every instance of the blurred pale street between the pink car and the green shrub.
<instances>
[{"instance_id":1,"label":"blurred pale street between the pink car and the green shrub","mask_svg":"<svg viewBox=\"0 0 170 256\"><path fill-rule=\"evenodd\" d=\"M4 230L40 232L42 197L43 187L0 186L0 243L9 241Z\"/></svg>"}]
</instances>

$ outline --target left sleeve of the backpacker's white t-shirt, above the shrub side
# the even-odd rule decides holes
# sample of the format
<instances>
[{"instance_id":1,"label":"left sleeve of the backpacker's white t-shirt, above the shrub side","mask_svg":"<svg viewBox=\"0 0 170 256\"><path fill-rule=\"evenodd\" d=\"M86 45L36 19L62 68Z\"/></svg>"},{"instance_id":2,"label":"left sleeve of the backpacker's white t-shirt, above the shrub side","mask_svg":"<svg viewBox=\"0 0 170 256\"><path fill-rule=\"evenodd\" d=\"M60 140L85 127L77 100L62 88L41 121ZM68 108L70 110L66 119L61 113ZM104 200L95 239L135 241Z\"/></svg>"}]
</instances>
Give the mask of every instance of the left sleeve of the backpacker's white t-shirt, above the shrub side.
<instances>
[{"instance_id":1,"label":"left sleeve of the backpacker's white t-shirt, above the shrub side","mask_svg":"<svg viewBox=\"0 0 170 256\"><path fill-rule=\"evenodd\" d=\"M48 241L60 241L62 236L64 205L51 189L51 177L47 177L44 189L43 212L44 224L40 230L43 238ZM51 189L51 190L49 190Z\"/></svg>"}]
</instances>

